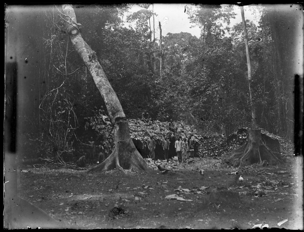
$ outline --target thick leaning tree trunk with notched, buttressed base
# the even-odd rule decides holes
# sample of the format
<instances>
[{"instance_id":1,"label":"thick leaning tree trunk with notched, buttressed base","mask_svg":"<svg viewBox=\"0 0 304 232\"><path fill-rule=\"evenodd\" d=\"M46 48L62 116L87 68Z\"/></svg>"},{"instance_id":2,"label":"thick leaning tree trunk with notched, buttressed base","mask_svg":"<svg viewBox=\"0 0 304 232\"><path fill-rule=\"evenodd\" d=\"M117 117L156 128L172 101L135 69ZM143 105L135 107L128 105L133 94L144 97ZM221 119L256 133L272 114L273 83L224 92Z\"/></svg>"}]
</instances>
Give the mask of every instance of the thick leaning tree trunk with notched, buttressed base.
<instances>
[{"instance_id":1,"label":"thick leaning tree trunk with notched, buttressed base","mask_svg":"<svg viewBox=\"0 0 304 232\"><path fill-rule=\"evenodd\" d=\"M110 85L101 65L98 62L95 52L83 40L79 31L79 23L76 21L74 9L71 5L62 5L63 19L67 27L67 32L73 43L74 50L79 54L85 63L88 71L92 75L96 87L102 95L109 112L109 118L114 125L115 147L112 154L101 164L89 169L89 171L108 171L110 169L134 169L148 170L149 166L137 151L130 138L129 123L126 119L123 108Z\"/></svg>"}]
</instances>

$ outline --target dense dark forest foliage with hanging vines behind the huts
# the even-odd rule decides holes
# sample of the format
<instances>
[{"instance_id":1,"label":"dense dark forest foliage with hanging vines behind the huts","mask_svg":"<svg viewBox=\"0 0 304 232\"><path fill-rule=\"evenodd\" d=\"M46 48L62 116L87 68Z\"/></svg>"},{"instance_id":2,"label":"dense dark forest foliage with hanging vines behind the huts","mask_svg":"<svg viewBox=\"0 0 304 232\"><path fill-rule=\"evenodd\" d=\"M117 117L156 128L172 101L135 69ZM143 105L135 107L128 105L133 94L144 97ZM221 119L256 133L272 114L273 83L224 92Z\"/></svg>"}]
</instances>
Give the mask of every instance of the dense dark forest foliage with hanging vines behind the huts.
<instances>
[{"instance_id":1,"label":"dense dark forest foliage with hanging vines behind the huts","mask_svg":"<svg viewBox=\"0 0 304 232\"><path fill-rule=\"evenodd\" d=\"M187 6L200 37L168 28L160 50L160 38L153 36L157 12L147 4L140 7L137 12L128 4L74 7L82 37L95 51L126 117L141 118L147 110L152 120L184 120L202 135L250 125L244 34L241 22L231 25L238 9ZM50 137L66 147L94 106L104 103L69 42L59 8L8 6L6 61L12 56L19 62L20 133ZM246 24L258 127L292 139L291 64L298 59L292 44L299 30L294 22L302 19L287 8L256 7L258 25L249 19Z\"/></svg>"}]
</instances>

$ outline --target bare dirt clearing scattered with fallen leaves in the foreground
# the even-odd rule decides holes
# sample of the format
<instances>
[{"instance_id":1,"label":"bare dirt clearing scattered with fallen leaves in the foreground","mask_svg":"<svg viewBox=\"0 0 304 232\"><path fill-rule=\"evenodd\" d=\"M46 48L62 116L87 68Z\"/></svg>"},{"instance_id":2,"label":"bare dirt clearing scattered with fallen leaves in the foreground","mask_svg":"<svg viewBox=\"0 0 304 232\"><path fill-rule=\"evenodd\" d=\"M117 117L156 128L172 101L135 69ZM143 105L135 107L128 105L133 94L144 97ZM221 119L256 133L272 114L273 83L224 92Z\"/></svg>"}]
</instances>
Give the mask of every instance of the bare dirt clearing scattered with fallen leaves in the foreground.
<instances>
[{"instance_id":1,"label":"bare dirt clearing scattered with fallen leaves in the foreground","mask_svg":"<svg viewBox=\"0 0 304 232\"><path fill-rule=\"evenodd\" d=\"M207 158L190 164L171 160L176 166L166 173L21 167L30 172L19 172L18 191L67 228L247 229L262 223L303 229L301 161L290 157L277 166L250 165L238 170L243 182L227 174L236 169Z\"/></svg>"}]
</instances>

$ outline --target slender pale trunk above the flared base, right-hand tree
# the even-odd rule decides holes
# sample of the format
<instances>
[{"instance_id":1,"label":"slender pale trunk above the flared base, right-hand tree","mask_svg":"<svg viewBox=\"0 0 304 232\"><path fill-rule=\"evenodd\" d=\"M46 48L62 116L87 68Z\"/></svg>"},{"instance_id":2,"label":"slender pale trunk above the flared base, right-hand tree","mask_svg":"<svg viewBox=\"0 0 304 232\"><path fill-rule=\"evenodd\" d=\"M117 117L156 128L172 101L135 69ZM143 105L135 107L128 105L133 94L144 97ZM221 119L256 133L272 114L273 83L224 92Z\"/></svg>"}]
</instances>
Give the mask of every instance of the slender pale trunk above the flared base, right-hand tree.
<instances>
[{"instance_id":1,"label":"slender pale trunk above the flared base, right-hand tree","mask_svg":"<svg viewBox=\"0 0 304 232\"><path fill-rule=\"evenodd\" d=\"M250 105L251 105L251 126L252 129L255 130L257 128L257 122L256 122L256 115L255 115L255 106L252 102L252 93L250 88L250 82L251 82L251 64L250 64L250 56L249 56L249 47L248 47L248 35L247 35L247 28L245 23L245 16L244 16L244 6L241 6L241 15L242 15L242 21L243 21L243 27L244 27L244 37L245 37L245 47L246 47L246 57L247 57L247 67L248 67L248 86L249 86L249 95L250 95Z\"/></svg>"}]
</instances>

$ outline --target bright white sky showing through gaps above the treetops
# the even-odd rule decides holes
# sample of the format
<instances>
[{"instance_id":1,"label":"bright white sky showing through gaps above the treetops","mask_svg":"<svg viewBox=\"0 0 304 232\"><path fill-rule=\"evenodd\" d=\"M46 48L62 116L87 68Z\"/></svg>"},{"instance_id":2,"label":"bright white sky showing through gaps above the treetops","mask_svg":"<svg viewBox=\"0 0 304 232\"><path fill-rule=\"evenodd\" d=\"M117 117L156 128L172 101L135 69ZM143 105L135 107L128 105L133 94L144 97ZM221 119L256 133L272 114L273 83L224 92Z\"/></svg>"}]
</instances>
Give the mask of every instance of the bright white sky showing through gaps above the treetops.
<instances>
[{"instance_id":1,"label":"bright white sky showing through gaps above the treetops","mask_svg":"<svg viewBox=\"0 0 304 232\"><path fill-rule=\"evenodd\" d=\"M196 36L199 38L200 36L200 29L198 26L195 26L193 28L190 28L192 24L190 23L190 20L188 19L188 14L184 13L185 11L185 5L187 7L193 7L190 4L164 4L164 3L154 3L154 12L158 15L155 17L155 37L159 37L159 28L158 28L158 21L161 22L162 27L162 35L166 36L167 33L180 33L180 32L188 32L191 33L193 36ZM143 9L139 7L138 5L133 5L128 14L136 12L140 9ZM152 10L152 5L150 6L150 9ZM234 24L241 23L242 17L240 14L240 8L238 6L235 7L235 12L237 13L237 16L235 19L231 19L230 26L232 27ZM255 15L253 12L247 7L244 7L245 12L245 19L252 20L256 25L258 23L258 16L256 16L257 19L255 19ZM125 16L126 17L126 16ZM151 23L153 23L153 18L151 17ZM125 26L128 26L128 23L125 23ZM151 24L152 30L153 30L153 24ZM132 26L135 26L132 25Z\"/></svg>"}]
</instances>

